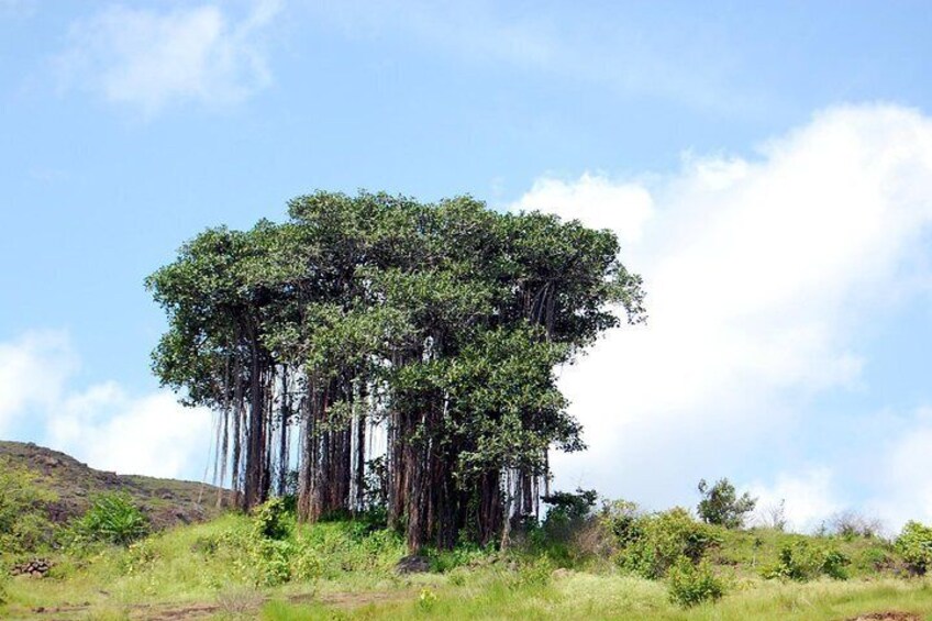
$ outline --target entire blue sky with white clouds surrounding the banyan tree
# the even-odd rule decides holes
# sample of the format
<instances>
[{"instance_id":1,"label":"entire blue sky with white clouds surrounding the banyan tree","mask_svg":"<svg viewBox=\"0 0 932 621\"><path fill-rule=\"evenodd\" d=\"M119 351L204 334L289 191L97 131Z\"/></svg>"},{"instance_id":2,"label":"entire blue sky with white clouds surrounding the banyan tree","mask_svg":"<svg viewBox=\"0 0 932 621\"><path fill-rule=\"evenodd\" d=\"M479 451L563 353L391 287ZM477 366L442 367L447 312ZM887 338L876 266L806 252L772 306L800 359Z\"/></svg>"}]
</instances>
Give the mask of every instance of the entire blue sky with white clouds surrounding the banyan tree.
<instances>
[{"instance_id":1,"label":"entire blue sky with white clouds surrounding the banyan tree","mask_svg":"<svg viewBox=\"0 0 932 621\"><path fill-rule=\"evenodd\" d=\"M199 478L143 278L317 188L613 228L564 487L932 521L924 2L0 0L0 436ZM141 440L142 439L142 440ZM698 439L698 441L697 441Z\"/></svg>"}]
</instances>

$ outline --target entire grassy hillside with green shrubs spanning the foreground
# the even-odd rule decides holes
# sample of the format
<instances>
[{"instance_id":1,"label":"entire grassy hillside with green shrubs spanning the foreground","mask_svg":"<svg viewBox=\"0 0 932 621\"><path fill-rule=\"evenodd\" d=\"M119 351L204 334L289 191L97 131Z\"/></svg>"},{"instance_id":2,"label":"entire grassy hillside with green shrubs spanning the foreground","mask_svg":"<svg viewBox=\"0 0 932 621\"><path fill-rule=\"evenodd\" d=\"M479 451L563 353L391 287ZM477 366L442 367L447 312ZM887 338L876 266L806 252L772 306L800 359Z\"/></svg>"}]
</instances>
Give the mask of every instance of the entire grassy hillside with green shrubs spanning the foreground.
<instances>
[{"instance_id":1,"label":"entire grassy hillside with green shrubs spanning the foreground","mask_svg":"<svg viewBox=\"0 0 932 621\"><path fill-rule=\"evenodd\" d=\"M428 570L402 574L403 540L375 519L301 525L281 500L254 515L218 514L212 494L198 502L197 484L116 477L60 453L2 447L0 475L43 499L32 506L43 519L49 502L65 498L77 514L108 490L126 491L149 514L192 507L191 515L210 517L176 519L129 545L63 535L54 546L0 551L4 619L932 619L932 579L870 533L729 530L681 509L612 503L553 513L506 551L425 550ZM3 520L0 530L13 523ZM36 556L52 564L44 577L9 575Z\"/></svg>"}]
</instances>

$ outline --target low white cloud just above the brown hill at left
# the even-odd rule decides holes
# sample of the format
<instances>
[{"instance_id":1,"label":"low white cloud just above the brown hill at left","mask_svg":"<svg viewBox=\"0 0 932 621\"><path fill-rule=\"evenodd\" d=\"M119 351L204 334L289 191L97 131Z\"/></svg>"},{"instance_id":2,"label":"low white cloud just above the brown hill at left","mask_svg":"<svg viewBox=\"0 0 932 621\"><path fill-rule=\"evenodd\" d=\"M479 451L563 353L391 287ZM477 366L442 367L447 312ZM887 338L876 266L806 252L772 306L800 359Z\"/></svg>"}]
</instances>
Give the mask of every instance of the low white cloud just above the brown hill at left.
<instances>
[{"instance_id":1,"label":"low white cloud just above the brown hill at left","mask_svg":"<svg viewBox=\"0 0 932 621\"><path fill-rule=\"evenodd\" d=\"M130 395L107 381L74 389L78 355L62 332L0 343L0 434L65 451L96 468L198 477L211 414L166 391Z\"/></svg>"}]
</instances>

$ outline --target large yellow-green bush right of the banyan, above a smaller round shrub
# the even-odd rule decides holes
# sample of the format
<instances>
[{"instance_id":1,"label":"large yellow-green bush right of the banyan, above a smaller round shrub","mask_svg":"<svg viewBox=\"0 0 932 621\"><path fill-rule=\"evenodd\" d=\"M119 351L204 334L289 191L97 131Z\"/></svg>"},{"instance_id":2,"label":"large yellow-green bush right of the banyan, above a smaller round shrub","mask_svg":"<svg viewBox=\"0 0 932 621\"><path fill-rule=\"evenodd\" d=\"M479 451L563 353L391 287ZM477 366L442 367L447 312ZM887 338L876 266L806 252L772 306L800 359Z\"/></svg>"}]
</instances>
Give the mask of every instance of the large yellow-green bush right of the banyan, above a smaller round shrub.
<instances>
[{"instance_id":1,"label":"large yellow-green bush right of the banyan, above a smaller round shrub","mask_svg":"<svg viewBox=\"0 0 932 621\"><path fill-rule=\"evenodd\" d=\"M692 519L683 508L652 514L636 514L636 508L623 506L606 518L615 533L619 564L645 578L667 575L681 558L698 563L711 547L721 543L715 531Z\"/></svg>"}]
</instances>

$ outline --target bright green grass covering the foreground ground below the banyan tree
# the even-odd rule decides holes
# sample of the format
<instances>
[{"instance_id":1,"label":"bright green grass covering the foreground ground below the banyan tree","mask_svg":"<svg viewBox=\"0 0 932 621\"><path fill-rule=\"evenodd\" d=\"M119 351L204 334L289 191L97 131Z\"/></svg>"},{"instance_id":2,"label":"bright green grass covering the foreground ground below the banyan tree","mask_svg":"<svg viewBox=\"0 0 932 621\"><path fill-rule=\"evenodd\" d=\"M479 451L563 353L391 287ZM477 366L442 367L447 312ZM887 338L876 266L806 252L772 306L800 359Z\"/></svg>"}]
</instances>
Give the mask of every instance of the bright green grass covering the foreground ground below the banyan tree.
<instances>
[{"instance_id":1,"label":"bright green grass covering the foreground ground below the banyan tree","mask_svg":"<svg viewBox=\"0 0 932 621\"><path fill-rule=\"evenodd\" d=\"M663 580L625 575L608 558L574 569L544 550L497 554L476 547L434 553L435 573L398 576L407 552L388 531L351 521L298 526L281 540L256 535L254 520L225 514L153 534L129 547L99 544L53 555L49 577L7 580L0 618L38 607L56 619L145 618L197 610L215 619L656 619L842 620L900 610L932 619L932 580L878 570L898 561L883 540L722 531L709 553L726 595L683 609ZM765 580L761 568L795 541L837 548L850 580ZM580 557L581 558L581 557ZM884 561L884 563L879 563ZM147 608L144 608L147 607Z\"/></svg>"}]
</instances>

